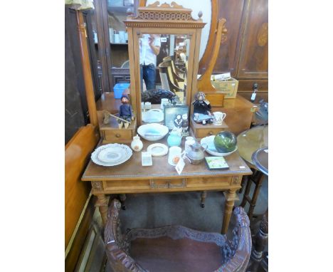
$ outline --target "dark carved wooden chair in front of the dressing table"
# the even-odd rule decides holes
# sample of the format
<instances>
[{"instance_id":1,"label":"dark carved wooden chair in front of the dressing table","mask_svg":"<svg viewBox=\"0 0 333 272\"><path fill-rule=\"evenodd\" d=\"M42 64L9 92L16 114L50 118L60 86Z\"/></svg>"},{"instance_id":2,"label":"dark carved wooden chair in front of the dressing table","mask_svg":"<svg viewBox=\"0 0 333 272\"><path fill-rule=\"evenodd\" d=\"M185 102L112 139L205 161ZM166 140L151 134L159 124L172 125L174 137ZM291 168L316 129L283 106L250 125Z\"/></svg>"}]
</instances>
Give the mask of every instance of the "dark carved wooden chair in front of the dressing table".
<instances>
[{"instance_id":1,"label":"dark carved wooden chair in front of the dressing table","mask_svg":"<svg viewBox=\"0 0 333 272\"><path fill-rule=\"evenodd\" d=\"M137 251L137 253L149 251L147 245L149 245L149 241L158 239L164 239L169 241L179 241L182 243L183 241L189 241L186 246L184 246L184 251L189 251L191 253L195 251L200 251L201 246L203 248L207 246L215 246L216 251L213 257L215 258L213 261L216 263L215 268L211 269L213 272L221 272L221 271L245 271L246 266L248 265L248 261L250 258L250 251L251 251L251 236L250 236L250 221L248 219L247 214L245 213L244 209L241 207L236 207L234 210L234 214L236 216L237 226L233 229L233 239L229 241L226 235L222 234L214 234L208 233L204 231L194 231L192 229L186 228L184 226L164 226L158 229L132 229L126 235L122 235L120 231L120 220L119 220L119 211L120 211L121 204L117 199L113 199L111 206L109 208L107 214L107 224L105 226L105 245L106 245L106 252L107 258L110 262L112 268L115 271L120 272L147 272L147 271L168 271L168 268L161 267L161 263L164 259L165 264L168 265L169 262L167 261L168 258L157 258L159 261L154 263L152 258L144 257L139 261L136 261L137 257L132 257L130 254L132 251L135 251L135 241L142 241L145 239L147 244L144 242L143 245L146 245L146 248L142 249L141 251ZM171 239L170 239L171 238ZM152 243L154 244L155 241ZM159 240L161 241L161 240ZM199 244L199 246L198 246ZM196 249L189 249L189 246L196 247ZM201 246L200 246L201 245ZM164 251L164 249L159 248L160 251ZM165 251L164 251L165 252ZM144 253L143 253L144 254ZM153 255L155 256L159 254L157 251L153 251ZM172 255L173 254L173 255ZM160 254L159 254L160 255ZM171 255L174 256L174 253L171 252ZM186 255L186 252L185 252ZM208 255L208 254L207 254ZM188 256L191 256L188 255ZM201 256L202 257L202 256ZM205 256L206 257L206 256ZM209 258L209 255L208 255ZM142 264L142 260L146 261L145 265ZM171 257L173 260L171 266L175 265L174 257ZM166 261L165 261L166 260ZM209 260L203 258L204 263L201 261L193 259L193 257L187 258L187 261L181 260L179 263L180 266L191 266L191 263L197 263L199 266L205 267L205 271L207 271L207 266L210 265ZM147 263L148 262L148 263ZM152 266L149 267L149 262ZM144 261L143 261L144 263ZM147 266L147 267L145 267ZM152 269L155 267L155 269ZM211 266L209 266L211 267ZM196 268L195 271L202 271L201 268ZM171 271L171 270L169 270ZM174 271L174 270L172 270ZM184 271L183 270L176 270L176 271ZM186 270L189 271L189 270ZM194 270L191 270L194 271Z\"/></svg>"}]
</instances>

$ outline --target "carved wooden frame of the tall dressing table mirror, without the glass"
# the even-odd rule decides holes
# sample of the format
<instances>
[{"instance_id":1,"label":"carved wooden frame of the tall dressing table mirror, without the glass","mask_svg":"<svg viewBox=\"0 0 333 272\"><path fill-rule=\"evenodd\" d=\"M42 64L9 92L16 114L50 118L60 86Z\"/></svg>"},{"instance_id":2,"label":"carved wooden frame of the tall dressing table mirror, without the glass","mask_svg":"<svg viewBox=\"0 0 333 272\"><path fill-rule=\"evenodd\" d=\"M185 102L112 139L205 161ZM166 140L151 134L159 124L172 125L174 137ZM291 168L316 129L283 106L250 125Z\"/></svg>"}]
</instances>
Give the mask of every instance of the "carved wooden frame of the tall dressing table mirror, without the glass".
<instances>
[{"instance_id":1,"label":"carved wooden frame of the tall dressing table mirror, without the glass","mask_svg":"<svg viewBox=\"0 0 333 272\"><path fill-rule=\"evenodd\" d=\"M191 108L191 100L194 95L192 90L197 88L201 29L206 24L201 19L201 12L198 14L198 20L192 18L191 12L191 9L185 9L174 2L171 5L164 3L159 6L159 1L156 1L154 4L139 7L137 17L127 16L125 25L128 33L130 94L138 125L142 125L139 70L139 35L141 33L184 34L189 36L190 52L187 70L186 105Z\"/></svg>"}]
</instances>

